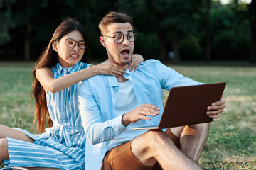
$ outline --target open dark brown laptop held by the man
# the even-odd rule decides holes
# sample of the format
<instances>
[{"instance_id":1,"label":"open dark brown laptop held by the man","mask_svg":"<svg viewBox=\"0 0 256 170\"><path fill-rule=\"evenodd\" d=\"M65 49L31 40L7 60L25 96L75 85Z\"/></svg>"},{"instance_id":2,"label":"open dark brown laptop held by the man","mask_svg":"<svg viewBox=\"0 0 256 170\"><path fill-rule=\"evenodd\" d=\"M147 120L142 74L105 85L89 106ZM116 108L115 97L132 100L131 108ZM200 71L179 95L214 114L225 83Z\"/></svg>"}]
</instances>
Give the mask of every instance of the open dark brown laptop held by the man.
<instances>
[{"instance_id":1,"label":"open dark brown laptop held by the man","mask_svg":"<svg viewBox=\"0 0 256 170\"><path fill-rule=\"evenodd\" d=\"M220 100L225 85L225 82L220 82L171 88L159 125L133 129L164 129L210 123L213 118L206 115L207 107Z\"/></svg>"}]
</instances>

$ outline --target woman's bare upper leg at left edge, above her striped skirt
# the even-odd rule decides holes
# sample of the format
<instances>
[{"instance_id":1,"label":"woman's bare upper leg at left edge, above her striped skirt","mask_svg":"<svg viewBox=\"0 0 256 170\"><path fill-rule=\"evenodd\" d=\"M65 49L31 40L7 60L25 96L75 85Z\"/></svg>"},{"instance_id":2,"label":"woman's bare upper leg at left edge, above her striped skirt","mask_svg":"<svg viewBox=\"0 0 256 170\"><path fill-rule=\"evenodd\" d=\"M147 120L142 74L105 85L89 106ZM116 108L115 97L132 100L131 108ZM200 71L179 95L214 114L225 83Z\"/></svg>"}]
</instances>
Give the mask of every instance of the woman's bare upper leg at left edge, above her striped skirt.
<instances>
[{"instance_id":1,"label":"woman's bare upper leg at left edge, above her striped skirt","mask_svg":"<svg viewBox=\"0 0 256 170\"><path fill-rule=\"evenodd\" d=\"M31 142L33 143L33 139L31 137L28 137L26 134L23 132L16 130L14 128L9 128L6 125L0 125L0 138L4 137L11 137L16 140L23 140L25 142Z\"/></svg>"}]
</instances>

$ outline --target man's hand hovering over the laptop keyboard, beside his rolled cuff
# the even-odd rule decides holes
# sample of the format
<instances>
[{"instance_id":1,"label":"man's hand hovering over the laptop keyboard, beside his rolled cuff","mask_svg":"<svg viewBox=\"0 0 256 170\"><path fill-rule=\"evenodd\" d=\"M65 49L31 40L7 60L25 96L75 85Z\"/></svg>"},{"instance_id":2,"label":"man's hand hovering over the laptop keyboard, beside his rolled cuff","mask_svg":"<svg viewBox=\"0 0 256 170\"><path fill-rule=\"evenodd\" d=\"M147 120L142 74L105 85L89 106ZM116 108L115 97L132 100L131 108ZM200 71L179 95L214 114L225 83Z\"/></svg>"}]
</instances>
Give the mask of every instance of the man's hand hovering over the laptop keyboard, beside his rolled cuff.
<instances>
[{"instance_id":1,"label":"man's hand hovering over the laptop keyboard, beside his rolled cuff","mask_svg":"<svg viewBox=\"0 0 256 170\"><path fill-rule=\"evenodd\" d=\"M122 124L124 126L130 123L137 122L140 119L151 120L147 115L156 116L159 115L160 108L152 104L142 104L141 106L135 108L134 110L125 113L122 117Z\"/></svg>"}]
</instances>

